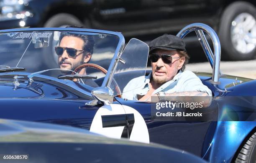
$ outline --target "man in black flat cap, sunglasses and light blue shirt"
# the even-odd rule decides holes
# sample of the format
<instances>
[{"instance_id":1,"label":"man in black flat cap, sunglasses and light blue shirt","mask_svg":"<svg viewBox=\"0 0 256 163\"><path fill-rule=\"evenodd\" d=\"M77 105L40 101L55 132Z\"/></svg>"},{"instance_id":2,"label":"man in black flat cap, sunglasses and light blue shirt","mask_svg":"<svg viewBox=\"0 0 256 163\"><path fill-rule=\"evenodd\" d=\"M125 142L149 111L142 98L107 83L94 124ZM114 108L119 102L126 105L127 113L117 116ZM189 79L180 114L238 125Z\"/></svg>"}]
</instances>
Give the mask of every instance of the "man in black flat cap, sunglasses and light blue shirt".
<instances>
[{"instance_id":1,"label":"man in black flat cap, sunglasses and light blue shirt","mask_svg":"<svg viewBox=\"0 0 256 163\"><path fill-rule=\"evenodd\" d=\"M142 87L123 94L123 98L151 101L151 96L212 96L208 87L192 72L184 71L188 63L184 41L173 35L160 36L149 43L152 72L132 79L125 87Z\"/></svg>"}]
</instances>

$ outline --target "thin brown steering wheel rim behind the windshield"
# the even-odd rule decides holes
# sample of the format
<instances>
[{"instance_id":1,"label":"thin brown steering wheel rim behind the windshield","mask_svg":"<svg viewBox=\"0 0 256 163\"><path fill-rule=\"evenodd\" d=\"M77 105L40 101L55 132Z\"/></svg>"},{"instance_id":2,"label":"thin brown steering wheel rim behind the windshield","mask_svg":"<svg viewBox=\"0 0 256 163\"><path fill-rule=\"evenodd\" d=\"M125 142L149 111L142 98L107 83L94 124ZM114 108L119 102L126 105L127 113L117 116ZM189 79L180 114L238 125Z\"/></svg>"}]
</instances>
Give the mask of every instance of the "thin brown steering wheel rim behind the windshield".
<instances>
[{"instance_id":1,"label":"thin brown steering wheel rim behind the windshield","mask_svg":"<svg viewBox=\"0 0 256 163\"><path fill-rule=\"evenodd\" d=\"M103 74L107 74L107 70L104 69L102 66L99 66L97 64L82 64L80 66L78 66L77 68L74 69L75 72L79 72L81 69L83 68L86 68L86 67L91 67L91 68L94 68L94 69L97 69L99 71L101 71ZM113 79L113 83L115 84L115 91L117 92L118 96L117 97L120 97L122 98L121 96L121 89L120 87L118 86L117 82L115 81L115 79Z\"/></svg>"}]
</instances>

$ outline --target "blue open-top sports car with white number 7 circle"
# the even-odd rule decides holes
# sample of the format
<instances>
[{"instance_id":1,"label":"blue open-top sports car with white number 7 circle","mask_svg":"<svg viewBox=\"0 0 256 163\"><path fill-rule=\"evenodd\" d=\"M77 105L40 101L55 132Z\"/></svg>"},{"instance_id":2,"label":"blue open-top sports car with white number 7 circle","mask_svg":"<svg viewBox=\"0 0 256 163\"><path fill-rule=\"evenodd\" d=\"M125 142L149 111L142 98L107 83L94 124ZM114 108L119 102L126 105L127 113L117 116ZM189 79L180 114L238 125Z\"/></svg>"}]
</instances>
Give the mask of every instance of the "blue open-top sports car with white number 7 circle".
<instances>
[{"instance_id":1,"label":"blue open-top sports car with white number 7 circle","mask_svg":"<svg viewBox=\"0 0 256 163\"><path fill-rule=\"evenodd\" d=\"M212 163L255 163L256 82L221 73L219 39L209 26L191 24L177 36L184 38L192 31L212 66L212 74L196 73L213 94L210 106L202 109L205 119L156 119L152 114L156 102L123 99L126 84L149 73L148 45L131 39L124 48L121 33L82 28L0 31L0 118L160 143ZM77 37L84 42L74 43ZM78 45L83 48L74 47Z\"/></svg>"}]
</instances>

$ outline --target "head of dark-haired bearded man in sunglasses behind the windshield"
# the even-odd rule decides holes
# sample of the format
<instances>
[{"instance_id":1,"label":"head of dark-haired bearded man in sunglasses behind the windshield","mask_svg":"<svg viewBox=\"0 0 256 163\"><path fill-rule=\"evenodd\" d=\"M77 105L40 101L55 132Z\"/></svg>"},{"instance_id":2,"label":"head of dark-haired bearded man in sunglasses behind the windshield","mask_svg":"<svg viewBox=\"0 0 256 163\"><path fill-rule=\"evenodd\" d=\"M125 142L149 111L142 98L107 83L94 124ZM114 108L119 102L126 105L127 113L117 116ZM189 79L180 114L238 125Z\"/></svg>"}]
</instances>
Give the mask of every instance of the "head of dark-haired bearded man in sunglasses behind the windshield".
<instances>
[{"instance_id":1,"label":"head of dark-haired bearded man in sunglasses behind the windshield","mask_svg":"<svg viewBox=\"0 0 256 163\"><path fill-rule=\"evenodd\" d=\"M59 46L55 47L55 52L59 56L59 68L74 71L78 66L88 63L92 57L94 44L95 42L90 35L61 32ZM71 74L72 71L63 70L62 72ZM85 68L78 73L86 74ZM86 79L84 84L98 87L91 79Z\"/></svg>"}]
</instances>

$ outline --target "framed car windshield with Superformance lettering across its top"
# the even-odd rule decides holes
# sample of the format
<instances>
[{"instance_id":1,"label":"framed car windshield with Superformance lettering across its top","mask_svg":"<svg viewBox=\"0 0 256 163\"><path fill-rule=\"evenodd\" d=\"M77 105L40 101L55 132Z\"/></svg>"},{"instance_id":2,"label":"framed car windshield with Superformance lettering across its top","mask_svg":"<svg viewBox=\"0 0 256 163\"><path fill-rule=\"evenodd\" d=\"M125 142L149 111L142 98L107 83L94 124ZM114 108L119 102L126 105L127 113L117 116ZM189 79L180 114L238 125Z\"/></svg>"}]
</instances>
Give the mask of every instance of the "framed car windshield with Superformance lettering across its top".
<instances>
[{"instance_id":1,"label":"framed car windshield with Superformance lettering across its top","mask_svg":"<svg viewBox=\"0 0 256 163\"><path fill-rule=\"evenodd\" d=\"M4 31L0 33L0 74L18 71L15 73L70 79L98 87L119 45L120 36L97 30Z\"/></svg>"}]
</instances>

